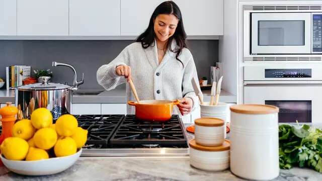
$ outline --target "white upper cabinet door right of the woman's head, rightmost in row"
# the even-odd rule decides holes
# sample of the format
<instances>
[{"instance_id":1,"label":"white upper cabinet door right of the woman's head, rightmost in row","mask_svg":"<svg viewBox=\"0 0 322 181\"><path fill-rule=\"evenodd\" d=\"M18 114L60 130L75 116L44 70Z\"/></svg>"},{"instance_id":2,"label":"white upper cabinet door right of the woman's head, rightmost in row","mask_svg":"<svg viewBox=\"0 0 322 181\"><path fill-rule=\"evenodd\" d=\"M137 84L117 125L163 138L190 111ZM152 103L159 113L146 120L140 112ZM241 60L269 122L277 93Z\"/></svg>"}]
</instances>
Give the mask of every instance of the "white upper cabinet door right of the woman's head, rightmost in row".
<instances>
[{"instance_id":1,"label":"white upper cabinet door right of the woman's head, rightmost in row","mask_svg":"<svg viewBox=\"0 0 322 181\"><path fill-rule=\"evenodd\" d=\"M224 0L174 0L190 36L223 35Z\"/></svg>"}]
</instances>

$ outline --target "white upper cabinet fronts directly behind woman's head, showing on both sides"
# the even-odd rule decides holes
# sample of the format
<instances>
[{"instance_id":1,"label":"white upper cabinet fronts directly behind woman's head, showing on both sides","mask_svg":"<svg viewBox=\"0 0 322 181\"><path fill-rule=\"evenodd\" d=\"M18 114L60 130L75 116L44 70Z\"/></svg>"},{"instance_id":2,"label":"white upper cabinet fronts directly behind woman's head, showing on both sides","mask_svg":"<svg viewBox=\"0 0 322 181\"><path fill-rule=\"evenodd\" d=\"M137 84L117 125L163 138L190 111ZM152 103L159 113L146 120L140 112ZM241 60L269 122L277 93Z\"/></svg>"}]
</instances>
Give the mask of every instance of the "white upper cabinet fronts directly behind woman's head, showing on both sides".
<instances>
[{"instance_id":1,"label":"white upper cabinet fronts directly behind woman's head, showing on both sides","mask_svg":"<svg viewBox=\"0 0 322 181\"><path fill-rule=\"evenodd\" d=\"M121 0L121 35L138 36L161 0ZM175 0L190 36L223 35L223 0Z\"/></svg>"}]
</instances>

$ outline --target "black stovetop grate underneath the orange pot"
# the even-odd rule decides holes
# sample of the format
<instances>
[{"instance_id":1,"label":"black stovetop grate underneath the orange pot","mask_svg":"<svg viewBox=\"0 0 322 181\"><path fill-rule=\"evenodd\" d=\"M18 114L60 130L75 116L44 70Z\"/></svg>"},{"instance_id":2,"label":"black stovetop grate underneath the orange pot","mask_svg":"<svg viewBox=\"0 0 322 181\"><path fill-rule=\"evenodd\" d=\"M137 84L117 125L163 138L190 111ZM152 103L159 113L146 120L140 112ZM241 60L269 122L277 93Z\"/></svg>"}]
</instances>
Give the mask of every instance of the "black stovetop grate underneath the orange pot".
<instances>
[{"instance_id":1,"label":"black stovetop grate underneath the orange pot","mask_svg":"<svg viewBox=\"0 0 322 181\"><path fill-rule=\"evenodd\" d=\"M126 115L110 139L112 145L143 145L146 147L188 147L184 126L178 115L166 122L137 120Z\"/></svg>"}]
</instances>

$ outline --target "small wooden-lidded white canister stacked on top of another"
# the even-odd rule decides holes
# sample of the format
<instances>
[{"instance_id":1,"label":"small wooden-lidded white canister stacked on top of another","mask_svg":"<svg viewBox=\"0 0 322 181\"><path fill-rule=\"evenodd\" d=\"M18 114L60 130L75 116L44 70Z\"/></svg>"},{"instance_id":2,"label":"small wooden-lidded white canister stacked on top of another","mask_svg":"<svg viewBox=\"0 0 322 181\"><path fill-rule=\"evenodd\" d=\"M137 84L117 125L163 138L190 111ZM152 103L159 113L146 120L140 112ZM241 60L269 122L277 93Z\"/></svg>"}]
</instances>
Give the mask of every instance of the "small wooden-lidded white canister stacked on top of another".
<instances>
[{"instance_id":1,"label":"small wooden-lidded white canister stacked on top of another","mask_svg":"<svg viewBox=\"0 0 322 181\"><path fill-rule=\"evenodd\" d=\"M196 143L203 146L219 146L224 141L224 121L218 118L195 120Z\"/></svg>"}]
</instances>

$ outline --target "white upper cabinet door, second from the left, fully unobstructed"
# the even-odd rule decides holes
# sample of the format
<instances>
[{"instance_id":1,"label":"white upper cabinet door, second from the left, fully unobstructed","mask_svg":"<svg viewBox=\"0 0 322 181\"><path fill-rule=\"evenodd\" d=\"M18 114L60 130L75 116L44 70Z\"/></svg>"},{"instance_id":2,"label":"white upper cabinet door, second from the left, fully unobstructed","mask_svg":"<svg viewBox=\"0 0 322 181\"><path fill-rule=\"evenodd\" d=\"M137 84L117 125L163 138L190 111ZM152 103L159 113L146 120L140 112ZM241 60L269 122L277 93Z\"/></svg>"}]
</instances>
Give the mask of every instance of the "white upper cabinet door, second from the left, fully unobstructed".
<instances>
[{"instance_id":1,"label":"white upper cabinet door, second from the left, fully unobstructed","mask_svg":"<svg viewBox=\"0 0 322 181\"><path fill-rule=\"evenodd\" d=\"M119 36L121 0L69 0L70 36Z\"/></svg>"}]
</instances>

